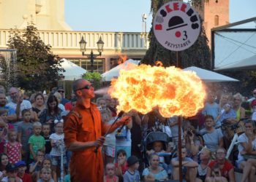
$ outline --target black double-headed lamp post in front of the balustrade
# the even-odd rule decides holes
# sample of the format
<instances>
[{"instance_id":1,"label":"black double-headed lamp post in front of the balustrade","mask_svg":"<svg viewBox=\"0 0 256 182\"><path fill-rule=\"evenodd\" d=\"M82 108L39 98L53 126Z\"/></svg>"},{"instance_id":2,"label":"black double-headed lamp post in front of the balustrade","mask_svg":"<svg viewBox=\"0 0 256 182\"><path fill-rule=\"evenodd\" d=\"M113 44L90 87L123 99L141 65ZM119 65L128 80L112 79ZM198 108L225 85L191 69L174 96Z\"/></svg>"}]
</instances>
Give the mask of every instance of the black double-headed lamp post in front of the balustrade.
<instances>
[{"instance_id":1,"label":"black double-headed lamp post in front of the balustrade","mask_svg":"<svg viewBox=\"0 0 256 182\"><path fill-rule=\"evenodd\" d=\"M87 58L90 58L90 60L91 60L91 73L92 73L92 72L94 72L94 58L97 58L98 56L102 55L104 42L102 41L102 37L100 36L99 41L97 41L99 55L94 54L94 52L92 50L91 50L90 54L85 54L85 52L86 52L86 43L87 42L85 41L85 39L83 39L83 36L82 36L82 39L79 41L80 51L82 52L83 56L86 56Z\"/></svg>"}]
</instances>

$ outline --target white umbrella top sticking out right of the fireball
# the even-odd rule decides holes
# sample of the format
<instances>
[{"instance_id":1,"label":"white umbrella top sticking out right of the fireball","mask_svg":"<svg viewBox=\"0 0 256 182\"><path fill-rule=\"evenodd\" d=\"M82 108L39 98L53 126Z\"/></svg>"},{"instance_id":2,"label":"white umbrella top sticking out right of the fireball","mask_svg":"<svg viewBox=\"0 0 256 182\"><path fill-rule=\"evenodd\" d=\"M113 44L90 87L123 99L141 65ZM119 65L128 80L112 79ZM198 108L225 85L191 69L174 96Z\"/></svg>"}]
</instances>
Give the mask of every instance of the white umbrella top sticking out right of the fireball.
<instances>
[{"instance_id":1,"label":"white umbrella top sticking out right of the fireball","mask_svg":"<svg viewBox=\"0 0 256 182\"><path fill-rule=\"evenodd\" d=\"M183 70L194 71L197 74L197 76L203 80L203 82L238 82L239 81L229 76L217 74L214 71L208 71L206 69L197 68L195 66L184 68Z\"/></svg>"}]
</instances>

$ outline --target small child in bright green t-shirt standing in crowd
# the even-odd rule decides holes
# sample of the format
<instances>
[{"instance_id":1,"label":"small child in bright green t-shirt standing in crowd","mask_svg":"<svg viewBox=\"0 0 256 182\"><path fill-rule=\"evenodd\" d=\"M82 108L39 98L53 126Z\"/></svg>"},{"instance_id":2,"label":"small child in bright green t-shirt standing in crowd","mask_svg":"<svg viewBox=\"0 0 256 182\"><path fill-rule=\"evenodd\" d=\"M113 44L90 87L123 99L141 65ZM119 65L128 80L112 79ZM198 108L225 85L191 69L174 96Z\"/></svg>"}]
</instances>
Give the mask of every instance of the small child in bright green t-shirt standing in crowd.
<instances>
[{"instance_id":1,"label":"small child in bright green t-shirt standing in crowd","mask_svg":"<svg viewBox=\"0 0 256 182\"><path fill-rule=\"evenodd\" d=\"M29 138L29 151L30 151L30 159L37 159L37 151L40 149L45 151L45 138L43 138L40 133L42 131L42 124L40 122L34 122L33 124L33 132L34 135L31 135Z\"/></svg>"}]
</instances>

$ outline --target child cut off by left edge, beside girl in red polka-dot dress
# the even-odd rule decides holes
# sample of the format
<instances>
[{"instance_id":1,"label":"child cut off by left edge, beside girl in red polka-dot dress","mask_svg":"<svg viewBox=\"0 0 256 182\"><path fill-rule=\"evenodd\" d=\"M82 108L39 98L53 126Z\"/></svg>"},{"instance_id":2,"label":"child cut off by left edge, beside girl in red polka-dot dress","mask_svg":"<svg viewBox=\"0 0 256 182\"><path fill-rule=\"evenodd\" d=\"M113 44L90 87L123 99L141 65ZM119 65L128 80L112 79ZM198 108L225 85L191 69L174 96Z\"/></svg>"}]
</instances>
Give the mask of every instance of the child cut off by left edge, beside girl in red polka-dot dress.
<instances>
[{"instance_id":1,"label":"child cut off by left edge, beside girl in red polka-dot dress","mask_svg":"<svg viewBox=\"0 0 256 182\"><path fill-rule=\"evenodd\" d=\"M7 109L0 108L0 117L5 123L4 126L0 126L0 154L4 152L4 144L8 140L8 136L7 136L8 130L14 129L12 124L8 123L7 114L8 114Z\"/></svg>"}]
</instances>

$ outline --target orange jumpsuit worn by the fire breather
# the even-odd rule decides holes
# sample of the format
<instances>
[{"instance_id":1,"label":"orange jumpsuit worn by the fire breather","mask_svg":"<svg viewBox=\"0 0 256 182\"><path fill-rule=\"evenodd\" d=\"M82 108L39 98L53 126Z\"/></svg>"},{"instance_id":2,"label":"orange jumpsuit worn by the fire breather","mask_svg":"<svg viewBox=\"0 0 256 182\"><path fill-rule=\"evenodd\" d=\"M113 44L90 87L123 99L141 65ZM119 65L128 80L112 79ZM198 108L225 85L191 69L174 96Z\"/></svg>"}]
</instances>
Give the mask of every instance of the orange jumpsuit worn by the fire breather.
<instances>
[{"instance_id":1,"label":"orange jumpsuit worn by the fire breather","mask_svg":"<svg viewBox=\"0 0 256 182\"><path fill-rule=\"evenodd\" d=\"M97 106L91 103L91 108L77 104L67 115L64 122L64 142L67 148L75 141L96 141L104 126ZM94 147L81 151L72 151L70 175L73 182L103 181L103 159L101 148L94 152Z\"/></svg>"}]
</instances>

